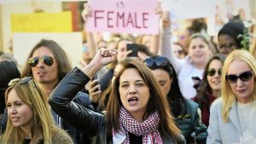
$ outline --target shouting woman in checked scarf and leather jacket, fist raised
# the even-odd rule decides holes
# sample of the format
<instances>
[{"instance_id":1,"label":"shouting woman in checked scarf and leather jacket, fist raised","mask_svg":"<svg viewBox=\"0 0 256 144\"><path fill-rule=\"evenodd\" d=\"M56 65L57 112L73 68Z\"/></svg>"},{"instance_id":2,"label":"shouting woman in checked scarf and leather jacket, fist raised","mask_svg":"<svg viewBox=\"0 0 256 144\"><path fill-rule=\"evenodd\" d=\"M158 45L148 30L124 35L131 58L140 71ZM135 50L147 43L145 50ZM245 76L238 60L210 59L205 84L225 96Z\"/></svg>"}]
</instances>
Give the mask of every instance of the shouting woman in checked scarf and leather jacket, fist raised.
<instances>
[{"instance_id":1,"label":"shouting woman in checked scarf and leather jacket, fist raised","mask_svg":"<svg viewBox=\"0 0 256 144\"><path fill-rule=\"evenodd\" d=\"M115 60L117 50L100 49L88 66L69 72L52 93L50 106L98 143L185 143L154 74L136 60L127 61L113 80L107 111L92 112L72 101L96 71Z\"/></svg>"}]
</instances>

